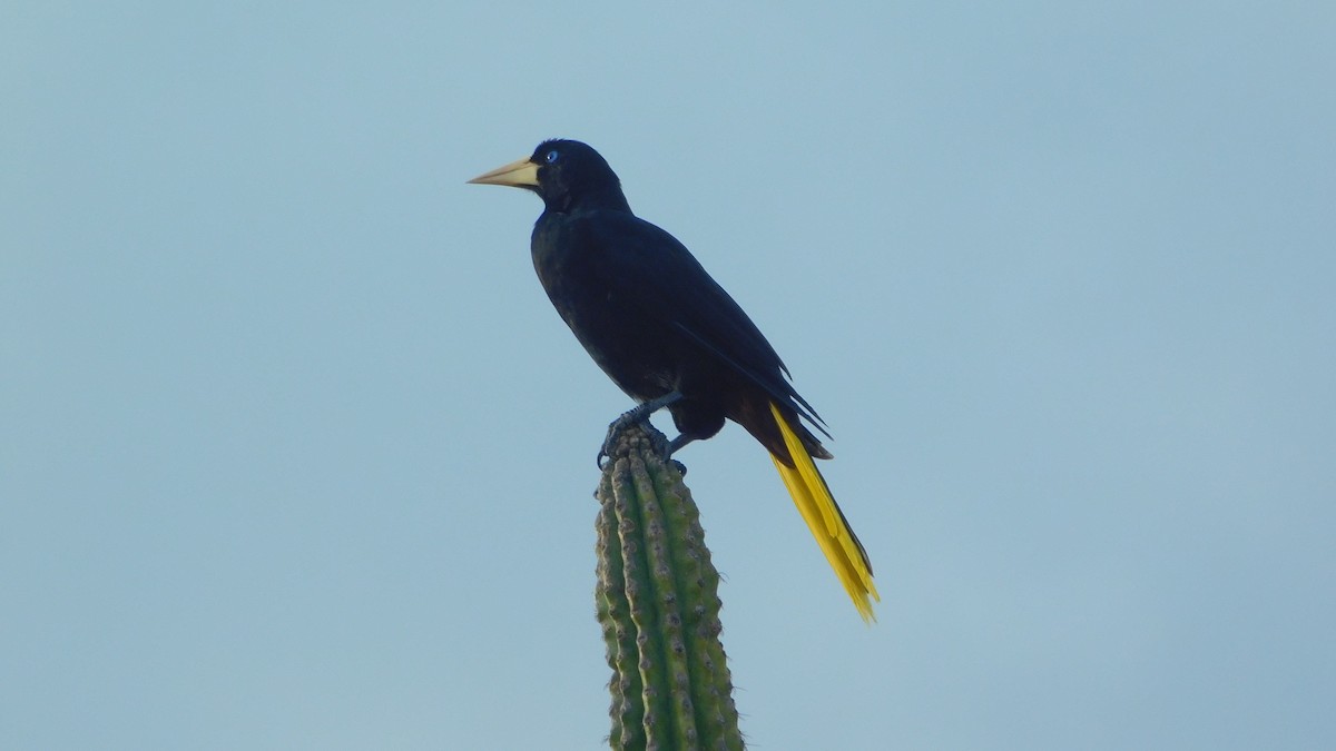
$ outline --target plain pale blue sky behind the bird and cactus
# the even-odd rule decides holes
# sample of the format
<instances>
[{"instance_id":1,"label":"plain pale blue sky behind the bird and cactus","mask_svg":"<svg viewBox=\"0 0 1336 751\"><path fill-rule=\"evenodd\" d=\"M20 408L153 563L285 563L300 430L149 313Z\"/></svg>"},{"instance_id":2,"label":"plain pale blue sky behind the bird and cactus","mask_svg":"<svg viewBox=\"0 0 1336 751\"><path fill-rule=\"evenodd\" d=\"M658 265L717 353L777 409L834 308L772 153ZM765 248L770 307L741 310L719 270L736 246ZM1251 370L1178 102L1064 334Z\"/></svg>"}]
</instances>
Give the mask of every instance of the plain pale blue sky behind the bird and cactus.
<instances>
[{"instance_id":1,"label":"plain pale blue sky behind the bird and cactus","mask_svg":"<svg viewBox=\"0 0 1336 751\"><path fill-rule=\"evenodd\" d=\"M835 436L872 627L741 429L679 456L751 747L1336 747L1333 29L7 3L0 747L604 744L631 405L465 184L552 136Z\"/></svg>"}]
</instances>

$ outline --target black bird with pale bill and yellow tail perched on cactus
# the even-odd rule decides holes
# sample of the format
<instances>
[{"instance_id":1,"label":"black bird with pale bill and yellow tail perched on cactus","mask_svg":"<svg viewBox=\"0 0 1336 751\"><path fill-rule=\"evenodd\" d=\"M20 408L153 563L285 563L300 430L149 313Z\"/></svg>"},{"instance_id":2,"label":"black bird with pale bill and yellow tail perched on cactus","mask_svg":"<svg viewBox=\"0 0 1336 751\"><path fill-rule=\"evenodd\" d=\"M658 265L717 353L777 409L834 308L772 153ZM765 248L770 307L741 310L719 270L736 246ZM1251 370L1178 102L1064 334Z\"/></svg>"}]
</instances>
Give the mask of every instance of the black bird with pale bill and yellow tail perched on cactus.
<instances>
[{"instance_id":1,"label":"black bird with pale bill and yellow tail perched on cactus","mask_svg":"<svg viewBox=\"0 0 1336 751\"><path fill-rule=\"evenodd\" d=\"M636 216L608 162L578 140L550 139L474 184L525 188L542 199L530 253L542 289L595 362L637 402L620 428L660 409L679 434L667 456L731 420L767 452L818 545L864 621L880 601L867 551L814 458L828 460L804 420L824 421L791 384L760 329L665 230Z\"/></svg>"}]
</instances>

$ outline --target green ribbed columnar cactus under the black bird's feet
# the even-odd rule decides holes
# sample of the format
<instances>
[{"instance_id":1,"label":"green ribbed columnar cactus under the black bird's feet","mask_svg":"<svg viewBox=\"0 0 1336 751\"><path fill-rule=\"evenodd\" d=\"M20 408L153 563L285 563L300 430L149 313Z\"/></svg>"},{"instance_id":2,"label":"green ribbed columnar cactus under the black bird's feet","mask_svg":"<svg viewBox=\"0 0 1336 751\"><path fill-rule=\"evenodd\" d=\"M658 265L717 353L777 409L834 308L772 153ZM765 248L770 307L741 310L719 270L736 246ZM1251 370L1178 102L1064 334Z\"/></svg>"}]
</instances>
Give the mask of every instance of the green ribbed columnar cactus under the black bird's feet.
<instances>
[{"instance_id":1,"label":"green ribbed columnar cactus under the black bird's feet","mask_svg":"<svg viewBox=\"0 0 1336 751\"><path fill-rule=\"evenodd\" d=\"M615 750L743 748L719 641L719 572L663 436L617 437L599 484L599 623Z\"/></svg>"}]
</instances>

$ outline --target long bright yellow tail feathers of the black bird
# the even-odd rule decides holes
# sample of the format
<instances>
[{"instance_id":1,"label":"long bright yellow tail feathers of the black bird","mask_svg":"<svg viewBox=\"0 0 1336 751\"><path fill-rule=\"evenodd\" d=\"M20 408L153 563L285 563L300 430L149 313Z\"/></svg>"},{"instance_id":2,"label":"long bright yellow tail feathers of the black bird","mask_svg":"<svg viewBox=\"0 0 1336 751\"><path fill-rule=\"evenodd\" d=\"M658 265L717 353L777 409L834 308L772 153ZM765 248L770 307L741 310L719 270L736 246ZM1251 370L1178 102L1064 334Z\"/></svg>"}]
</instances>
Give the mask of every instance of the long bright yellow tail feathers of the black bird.
<instances>
[{"instance_id":1,"label":"long bright yellow tail feathers of the black bird","mask_svg":"<svg viewBox=\"0 0 1336 751\"><path fill-rule=\"evenodd\" d=\"M790 466L774 453L770 458L775 461L775 468L784 478L788 494L794 497L794 504L803 514L803 521L807 522L807 528L816 537L816 544L826 553L826 560L835 569L835 576L839 577L844 591L854 600L858 615L863 616L864 621L876 620L872 613L872 600L879 603L882 597L876 593L876 584L872 583L872 565L867 560L863 545L854 536L854 531L848 528L848 521L839 510L839 505L835 504L830 488L826 486L826 480L816 470L811 454L794 433L788 421L784 420L779 406L772 402L770 410L775 416L775 422L779 424L779 432L784 436L784 446L788 448L788 456L794 465Z\"/></svg>"}]
</instances>

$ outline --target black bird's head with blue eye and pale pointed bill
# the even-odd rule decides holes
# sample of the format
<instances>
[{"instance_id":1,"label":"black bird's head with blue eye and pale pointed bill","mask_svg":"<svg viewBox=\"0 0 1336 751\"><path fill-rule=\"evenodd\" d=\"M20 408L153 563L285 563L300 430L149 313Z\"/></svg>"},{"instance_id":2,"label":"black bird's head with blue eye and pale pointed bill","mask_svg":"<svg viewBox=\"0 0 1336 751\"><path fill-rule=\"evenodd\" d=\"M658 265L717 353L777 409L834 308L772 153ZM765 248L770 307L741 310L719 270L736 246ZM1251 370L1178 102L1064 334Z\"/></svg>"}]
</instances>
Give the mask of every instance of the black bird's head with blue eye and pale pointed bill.
<instances>
[{"instance_id":1,"label":"black bird's head with blue eye and pale pointed bill","mask_svg":"<svg viewBox=\"0 0 1336 751\"><path fill-rule=\"evenodd\" d=\"M578 140L545 140L533 154L469 180L532 190L550 211L577 206L625 207L621 182L608 162Z\"/></svg>"}]
</instances>

